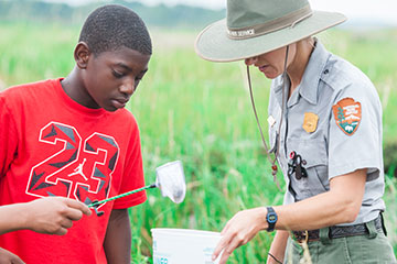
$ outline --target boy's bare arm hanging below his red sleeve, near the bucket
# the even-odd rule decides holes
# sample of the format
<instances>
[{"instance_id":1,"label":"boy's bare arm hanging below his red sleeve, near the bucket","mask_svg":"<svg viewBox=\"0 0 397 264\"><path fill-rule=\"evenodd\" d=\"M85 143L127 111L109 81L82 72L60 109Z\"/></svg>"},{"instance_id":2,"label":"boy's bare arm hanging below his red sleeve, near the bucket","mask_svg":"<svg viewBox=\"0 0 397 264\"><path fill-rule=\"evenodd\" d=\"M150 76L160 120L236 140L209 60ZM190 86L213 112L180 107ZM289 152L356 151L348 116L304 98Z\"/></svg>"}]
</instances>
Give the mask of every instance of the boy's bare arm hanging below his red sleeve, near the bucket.
<instances>
[{"instance_id":1,"label":"boy's bare arm hanging below his red sleeve, near the bucket","mask_svg":"<svg viewBox=\"0 0 397 264\"><path fill-rule=\"evenodd\" d=\"M131 228L127 209L111 211L104 250L108 264L131 263Z\"/></svg>"}]
</instances>

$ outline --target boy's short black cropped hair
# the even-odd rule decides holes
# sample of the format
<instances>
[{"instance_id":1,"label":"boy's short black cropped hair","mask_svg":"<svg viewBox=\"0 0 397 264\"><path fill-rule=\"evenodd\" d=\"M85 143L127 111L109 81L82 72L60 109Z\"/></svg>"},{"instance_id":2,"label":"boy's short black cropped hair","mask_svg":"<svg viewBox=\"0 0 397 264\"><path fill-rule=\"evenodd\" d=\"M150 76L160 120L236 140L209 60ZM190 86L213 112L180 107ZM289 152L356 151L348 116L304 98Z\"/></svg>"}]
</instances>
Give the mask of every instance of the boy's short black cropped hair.
<instances>
[{"instance_id":1,"label":"boy's short black cropped hair","mask_svg":"<svg viewBox=\"0 0 397 264\"><path fill-rule=\"evenodd\" d=\"M147 26L137 13L119 6L107 4L94 10L86 19L79 42L85 42L94 55L116 51L122 46L152 54Z\"/></svg>"}]
</instances>

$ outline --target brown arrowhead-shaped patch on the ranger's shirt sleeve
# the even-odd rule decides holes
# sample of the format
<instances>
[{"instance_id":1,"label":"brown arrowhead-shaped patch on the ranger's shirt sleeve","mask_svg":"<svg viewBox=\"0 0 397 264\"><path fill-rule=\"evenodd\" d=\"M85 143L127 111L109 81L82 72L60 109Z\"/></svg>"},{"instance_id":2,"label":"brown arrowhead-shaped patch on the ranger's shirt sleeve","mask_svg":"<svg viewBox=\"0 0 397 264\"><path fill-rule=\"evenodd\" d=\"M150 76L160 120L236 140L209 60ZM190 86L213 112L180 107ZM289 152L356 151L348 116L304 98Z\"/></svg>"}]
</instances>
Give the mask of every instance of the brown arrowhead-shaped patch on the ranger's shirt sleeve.
<instances>
[{"instance_id":1,"label":"brown arrowhead-shaped patch on the ranger's shirt sleeve","mask_svg":"<svg viewBox=\"0 0 397 264\"><path fill-rule=\"evenodd\" d=\"M361 122L361 103L353 98L344 98L332 107L337 127L346 134L353 135Z\"/></svg>"}]
</instances>

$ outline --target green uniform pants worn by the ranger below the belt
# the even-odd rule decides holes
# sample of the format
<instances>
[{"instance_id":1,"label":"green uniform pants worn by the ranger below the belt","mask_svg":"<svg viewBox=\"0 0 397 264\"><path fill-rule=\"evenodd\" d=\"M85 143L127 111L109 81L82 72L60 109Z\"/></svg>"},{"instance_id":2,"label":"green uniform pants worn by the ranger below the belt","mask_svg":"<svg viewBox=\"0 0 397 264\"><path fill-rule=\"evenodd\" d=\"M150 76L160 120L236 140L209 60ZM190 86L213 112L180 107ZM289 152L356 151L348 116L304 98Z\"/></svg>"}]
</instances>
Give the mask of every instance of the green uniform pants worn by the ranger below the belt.
<instances>
[{"instance_id":1,"label":"green uniform pants worn by the ranger below the belt","mask_svg":"<svg viewBox=\"0 0 397 264\"><path fill-rule=\"evenodd\" d=\"M289 238L285 264L395 264L393 248L382 230L368 222L368 234L329 239L329 229L320 230L320 241L299 244ZM307 250L304 250L307 249Z\"/></svg>"}]
</instances>

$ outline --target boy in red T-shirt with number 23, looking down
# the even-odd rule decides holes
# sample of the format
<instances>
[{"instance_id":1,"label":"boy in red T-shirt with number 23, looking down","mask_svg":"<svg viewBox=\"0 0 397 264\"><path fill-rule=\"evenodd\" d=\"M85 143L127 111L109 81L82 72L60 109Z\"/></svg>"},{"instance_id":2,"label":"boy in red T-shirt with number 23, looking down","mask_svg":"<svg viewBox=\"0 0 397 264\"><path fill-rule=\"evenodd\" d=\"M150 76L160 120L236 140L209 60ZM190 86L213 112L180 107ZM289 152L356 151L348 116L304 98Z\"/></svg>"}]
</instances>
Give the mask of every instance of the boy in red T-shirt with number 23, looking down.
<instances>
[{"instance_id":1,"label":"boy in red T-shirt with number 23, looking down","mask_svg":"<svg viewBox=\"0 0 397 264\"><path fill-rule=\"evenodd\" d=\"M137 122L124 107L148 70L142 20L116 4L87 18L65 79L0 94L0 202L61 196L88 205L144 185ZM0 235L26 263L130 263L128 207L146 193L109 201L56 237L29 230Z\"/></svg>"}]
</instances>

